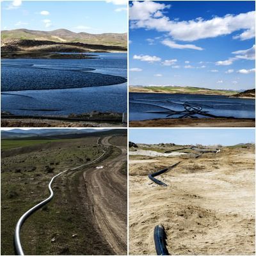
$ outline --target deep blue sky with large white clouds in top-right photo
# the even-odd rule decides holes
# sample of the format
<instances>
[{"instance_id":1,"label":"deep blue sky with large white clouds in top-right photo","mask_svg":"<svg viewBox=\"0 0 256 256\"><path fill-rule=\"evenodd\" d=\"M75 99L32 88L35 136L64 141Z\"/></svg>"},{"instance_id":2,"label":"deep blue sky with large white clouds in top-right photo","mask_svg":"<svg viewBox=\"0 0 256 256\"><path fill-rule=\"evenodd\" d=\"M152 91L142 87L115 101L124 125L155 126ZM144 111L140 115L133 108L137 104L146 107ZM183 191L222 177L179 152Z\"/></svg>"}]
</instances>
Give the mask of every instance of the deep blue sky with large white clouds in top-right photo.
<instances>
[{"instance_id":1,"label":"deep blue sky with large white clouds in top-right photo","mask_svg":"<svg viewBox=\"0 0 256 256\"><path fill-rule=\"evenodd\" d=\"M130 85L255 87L254 1L129 5Z\"/></svg>"}]
</instances>

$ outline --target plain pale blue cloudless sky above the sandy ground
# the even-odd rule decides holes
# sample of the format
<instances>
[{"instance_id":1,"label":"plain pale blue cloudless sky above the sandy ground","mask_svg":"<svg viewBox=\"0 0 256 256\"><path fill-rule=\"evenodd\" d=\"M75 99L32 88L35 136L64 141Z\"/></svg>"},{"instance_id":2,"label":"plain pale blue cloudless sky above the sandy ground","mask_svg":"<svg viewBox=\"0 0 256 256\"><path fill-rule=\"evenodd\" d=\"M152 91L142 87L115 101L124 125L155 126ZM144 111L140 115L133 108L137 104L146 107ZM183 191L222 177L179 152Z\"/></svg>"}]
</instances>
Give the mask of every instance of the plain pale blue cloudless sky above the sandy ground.
<instances>
[{"instance_id":1,"label":"plain pale blue cloudless sky above the sandy ground","mask_svg":"<svg viewBox=\"0 0 256 256\"><path fill-rule=\"evenodd\" d=\"M255 143L254 129L129 129L134 143L175 143L180 145L236 145Z\"/></svg>"}]
</instances>

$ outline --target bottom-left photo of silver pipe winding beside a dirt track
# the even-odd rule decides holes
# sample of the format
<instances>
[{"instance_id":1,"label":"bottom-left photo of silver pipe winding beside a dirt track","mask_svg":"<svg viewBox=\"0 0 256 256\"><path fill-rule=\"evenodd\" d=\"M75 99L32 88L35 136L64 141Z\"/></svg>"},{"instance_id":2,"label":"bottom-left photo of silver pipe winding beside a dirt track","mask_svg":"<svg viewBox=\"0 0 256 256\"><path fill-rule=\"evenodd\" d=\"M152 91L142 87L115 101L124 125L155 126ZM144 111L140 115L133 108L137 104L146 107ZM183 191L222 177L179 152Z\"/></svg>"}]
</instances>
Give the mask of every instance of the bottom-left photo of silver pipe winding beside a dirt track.
<instances>
[{"instance_id":1,"label":"bottom-left photo of silver pipe winding beside a dirt track","mask_svg":"<svg viewBox=\"0 0 256 256\"><path fill-rule=\"evenodd\" d=\"M2 128L1 253L127 255L127 129Z\"/></svg>"}]
</instances>

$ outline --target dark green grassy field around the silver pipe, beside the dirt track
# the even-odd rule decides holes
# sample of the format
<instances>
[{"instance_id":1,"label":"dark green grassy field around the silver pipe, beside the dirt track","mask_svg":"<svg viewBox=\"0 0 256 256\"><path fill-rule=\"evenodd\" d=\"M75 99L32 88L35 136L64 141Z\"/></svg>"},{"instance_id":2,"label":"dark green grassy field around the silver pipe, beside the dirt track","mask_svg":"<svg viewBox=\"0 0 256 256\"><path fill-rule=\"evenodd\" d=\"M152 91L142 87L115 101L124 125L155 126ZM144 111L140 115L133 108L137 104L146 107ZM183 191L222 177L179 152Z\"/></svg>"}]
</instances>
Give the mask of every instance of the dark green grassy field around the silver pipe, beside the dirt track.
<instances>
[{"instance_id":1,"label":"dark green grassy field around the silver pipe, beside the dirt track","mask_svg":"<svg viewBox=\"0 0 256 256\"><path fill-rule=\"evenodd\" d=\"M35 147L35 143L40 143L40 147ZM99 157L102 147L96 143L95 137L4 141L1 150L1 255L14 255L15 225L25 211L47 198L49 180L67 168ZM107 152L106 156L112 153L116 154L115 150ZM60 175L53 184L56 196L52 202L33 214L22 227L22 246L27 255L83 255L86 243L81 230L83 216L77 214L74 205L79 198L74 195L72 198L70 191L76 188L76 175L81 171ZM56 241L52 241L54 237Z\"/></svg>"}]
</instances>

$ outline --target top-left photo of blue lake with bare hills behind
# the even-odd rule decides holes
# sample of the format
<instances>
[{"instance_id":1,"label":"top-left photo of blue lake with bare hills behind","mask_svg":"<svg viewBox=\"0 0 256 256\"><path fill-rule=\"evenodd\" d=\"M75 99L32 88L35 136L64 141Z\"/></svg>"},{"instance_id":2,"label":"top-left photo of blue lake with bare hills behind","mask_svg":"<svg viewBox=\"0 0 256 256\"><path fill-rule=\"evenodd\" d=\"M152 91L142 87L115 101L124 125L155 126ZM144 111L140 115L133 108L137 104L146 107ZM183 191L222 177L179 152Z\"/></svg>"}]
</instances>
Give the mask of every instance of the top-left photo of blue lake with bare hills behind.
<instances>
[{"instance_id":1,"label":"top-left photo of blue lake with bare hills behind","mask_svg":"<svg viewBox=\"0 0 256 256\"><path fill-rule=\"evenodd\" d=\"M2 127L126 127L125 1L1 2Z\"/></svg>"}]
</instances>

